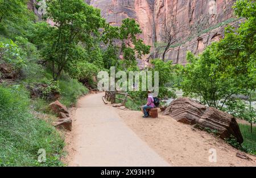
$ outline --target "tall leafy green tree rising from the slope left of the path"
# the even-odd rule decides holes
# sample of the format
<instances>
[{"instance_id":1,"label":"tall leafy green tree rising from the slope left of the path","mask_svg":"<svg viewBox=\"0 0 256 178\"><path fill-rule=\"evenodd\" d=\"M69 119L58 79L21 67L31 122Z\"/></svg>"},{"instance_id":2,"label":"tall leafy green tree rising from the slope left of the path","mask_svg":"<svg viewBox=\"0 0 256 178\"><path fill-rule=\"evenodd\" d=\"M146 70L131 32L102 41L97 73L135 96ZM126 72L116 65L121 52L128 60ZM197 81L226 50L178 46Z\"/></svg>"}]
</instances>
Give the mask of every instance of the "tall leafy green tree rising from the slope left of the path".
<instances>
[{"instance_id":1,"label":"tall leafy green tree rising from the slope left of the path","mask_svg":"<svg viewBox=\"0 0 256 178\"><path fill-rule=\"evenodd\" d=\"M40 34L47 34L42 40L44 59L51 63L52 77L57 80L70 61L80 59L79 44L90 49L94 46L94 36L99 36L99 28L105 23L100 10L87 5L82 0L48 0L47 18L55 26L42 28ZM42 35L40 35L42 36Z\"/></svg>"}]
</instances>

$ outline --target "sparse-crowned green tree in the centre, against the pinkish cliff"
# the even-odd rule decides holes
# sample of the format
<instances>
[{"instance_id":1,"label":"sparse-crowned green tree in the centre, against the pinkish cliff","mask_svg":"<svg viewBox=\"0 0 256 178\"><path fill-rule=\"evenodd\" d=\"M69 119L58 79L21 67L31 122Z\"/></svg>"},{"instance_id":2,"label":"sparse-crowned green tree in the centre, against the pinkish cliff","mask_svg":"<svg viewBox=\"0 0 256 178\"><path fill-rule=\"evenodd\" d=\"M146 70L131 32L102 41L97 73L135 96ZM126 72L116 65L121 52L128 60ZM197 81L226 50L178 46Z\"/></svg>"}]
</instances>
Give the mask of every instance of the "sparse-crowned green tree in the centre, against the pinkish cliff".
<instances>
[{"instance_id":1,"label":"sparse-crowned green tree in the centre, against the pinkish cliff","mask_svg":"<svg viewBox=\"0 0 256 178\"><path fill-rule=\"evenodd\" d=\"M142 55L150 52L150 46L145 45L143 40L137 38L141 33L139 24L134 19L127 18L123 19L121 27L112 27L106 24L102 41L109 46L108 53L115 54L114 60L119 59L120 56L123 57L121 64L124 68L136 68L136 59L141 59ZM116 47L119 47L118 52Z\"/></svg>"}]
</instances>

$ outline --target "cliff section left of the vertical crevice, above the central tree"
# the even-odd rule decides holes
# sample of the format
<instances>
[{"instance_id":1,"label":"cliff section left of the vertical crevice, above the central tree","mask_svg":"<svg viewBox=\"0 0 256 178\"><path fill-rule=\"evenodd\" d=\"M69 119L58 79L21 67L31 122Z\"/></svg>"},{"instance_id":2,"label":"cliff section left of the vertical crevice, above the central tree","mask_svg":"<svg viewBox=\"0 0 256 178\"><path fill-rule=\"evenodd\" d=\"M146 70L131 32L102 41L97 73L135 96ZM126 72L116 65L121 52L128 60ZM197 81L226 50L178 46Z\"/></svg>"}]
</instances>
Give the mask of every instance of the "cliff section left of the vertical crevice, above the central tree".
<instances>
[{"instance_id":1,"label":"cliff section left of the vertical crevice, above the central tree","mask_svg":"<svg viewBox=\"0 0 256 178\"><path fill-rule=\"evenodd\" d=\"M102 17L113 26L122 24L125 18L134 18L142 29L141 38L152 45L154 0L91 0L89 5L101 9Z\"/></svg>"}]
</instances>

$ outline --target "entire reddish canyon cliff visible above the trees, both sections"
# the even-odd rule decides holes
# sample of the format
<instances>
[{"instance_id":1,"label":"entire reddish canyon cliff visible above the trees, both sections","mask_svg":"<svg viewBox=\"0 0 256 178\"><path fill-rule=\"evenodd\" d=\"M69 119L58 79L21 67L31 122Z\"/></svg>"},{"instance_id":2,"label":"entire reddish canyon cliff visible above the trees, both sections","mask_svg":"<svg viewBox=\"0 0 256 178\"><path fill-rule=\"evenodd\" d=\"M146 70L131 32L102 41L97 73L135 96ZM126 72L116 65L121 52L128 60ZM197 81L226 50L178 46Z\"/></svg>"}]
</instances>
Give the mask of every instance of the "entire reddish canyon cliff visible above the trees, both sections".
<instances>
[{"instance_id":1,"label":"entire reddish canyon cliff visible above the trees, both sections","mask_svg":"<svg viewBox=\"0 0 256 178\"><path fill-rule=\"evenodd\" d=\"M175 26L175 48L167 60L185 64L187 51L200 53L210 43L224 36L225 23L233 18L235 0L86 0L101 9L102 16L118 26L124 18L134 18L142 29L141 38L148 45L163 43L164 26ZM232 21L232 20L229 20ZM219 27L219 28L218 28ZM151 49L151 57L160 57L163 49Z\"/></svg>"}]
</instances>

